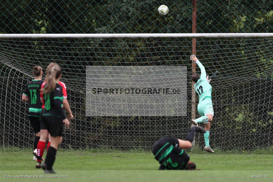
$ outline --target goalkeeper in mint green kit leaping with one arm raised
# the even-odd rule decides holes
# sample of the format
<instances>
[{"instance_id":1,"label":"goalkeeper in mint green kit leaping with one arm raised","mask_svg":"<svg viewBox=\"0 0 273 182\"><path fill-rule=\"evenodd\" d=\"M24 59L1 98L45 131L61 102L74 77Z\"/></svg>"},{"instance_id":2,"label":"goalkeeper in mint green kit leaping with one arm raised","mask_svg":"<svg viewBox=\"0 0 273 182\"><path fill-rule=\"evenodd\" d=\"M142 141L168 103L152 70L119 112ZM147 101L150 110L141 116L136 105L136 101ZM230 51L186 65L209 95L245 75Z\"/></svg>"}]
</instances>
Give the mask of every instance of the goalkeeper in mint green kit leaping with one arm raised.
<instances>
[{"instance_id":1,"label":"goalkeeper in mint green kit leaping with one arm raised","mask_svg":"<svg viewBox=\"0 0 273 182\"><path fill-rule=\"evenodd\" d=\"M192 80L195 82L194 89L196 93L199 95L199 103L197 106L197 111L201 117L191 120L191 123L198 126L198 123L204 123L206 133L204 133L205 144L204 150L207 152L214 153L214 151L210 147L210 128L211 128L211 121L213 118L213 107L211 101L211 85L206 74L206 70L201 62L196 58L196 56L191 55L190 60L194 61L199 68L201 69L201 76L198 74L192 75Z\"/></svg>"}]
</instances>

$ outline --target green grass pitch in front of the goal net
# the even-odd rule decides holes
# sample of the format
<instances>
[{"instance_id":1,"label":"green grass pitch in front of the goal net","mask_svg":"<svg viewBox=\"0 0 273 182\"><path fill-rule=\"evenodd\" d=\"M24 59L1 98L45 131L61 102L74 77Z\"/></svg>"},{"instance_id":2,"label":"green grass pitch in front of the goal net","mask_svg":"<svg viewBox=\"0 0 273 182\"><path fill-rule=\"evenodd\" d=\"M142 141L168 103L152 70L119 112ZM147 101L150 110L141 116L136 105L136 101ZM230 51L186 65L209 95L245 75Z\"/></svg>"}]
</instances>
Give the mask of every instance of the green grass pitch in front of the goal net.
<instances>
[{"instance_id":1,"label":"green grass pitch in front of the goal net","mask_svg":"<svg viewBox=\"0 0 273 182\"><path fill-rule=\"evenodd\" d=\"M273 181L273 155L248 153L189 153L201 170L158 171L159 164L151 152L91 152L62 150L57 152L54 170L46 176L35 169L30 150L0 151L0 181ZM45 156L45 153L44 153ZM38 175L17 178L15 175ZM5 177L11 175L12 178ZM43 175L43 179L41 176ZM68 175L61 178L59 175ZM267 178L252 178L267 175Z\"/></svg>"}]
</instances>

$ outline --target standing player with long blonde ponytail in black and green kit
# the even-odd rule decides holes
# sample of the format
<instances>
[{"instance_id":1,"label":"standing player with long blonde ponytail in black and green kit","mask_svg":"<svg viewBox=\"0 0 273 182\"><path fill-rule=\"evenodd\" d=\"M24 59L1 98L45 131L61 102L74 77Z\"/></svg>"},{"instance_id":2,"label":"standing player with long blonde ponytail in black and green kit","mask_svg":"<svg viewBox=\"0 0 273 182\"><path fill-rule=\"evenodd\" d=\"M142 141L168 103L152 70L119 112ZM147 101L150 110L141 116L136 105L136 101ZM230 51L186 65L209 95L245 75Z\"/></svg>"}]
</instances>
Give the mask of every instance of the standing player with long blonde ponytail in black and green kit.
<instances>
[{"instance_id":1,"label":"standing player with long blonde ponytail in black and green kit","mask_svg":"<svg viewBox=\"0 0 273 182\"><path fill-rule=\"evenodd\" d=\"M61 143L63 123L69 127L69 120L62 110L63 93L60 80L61 68L56 63L50 63L46 70L45 85L41 89L41 137L37 146L36 168L42 167L46 173L55 173L52 169L56 152ZM45 143L51 135L51 143L46 154L45 162L41 165L41 158L45 149Z\"/></svg>"}]
</instances>

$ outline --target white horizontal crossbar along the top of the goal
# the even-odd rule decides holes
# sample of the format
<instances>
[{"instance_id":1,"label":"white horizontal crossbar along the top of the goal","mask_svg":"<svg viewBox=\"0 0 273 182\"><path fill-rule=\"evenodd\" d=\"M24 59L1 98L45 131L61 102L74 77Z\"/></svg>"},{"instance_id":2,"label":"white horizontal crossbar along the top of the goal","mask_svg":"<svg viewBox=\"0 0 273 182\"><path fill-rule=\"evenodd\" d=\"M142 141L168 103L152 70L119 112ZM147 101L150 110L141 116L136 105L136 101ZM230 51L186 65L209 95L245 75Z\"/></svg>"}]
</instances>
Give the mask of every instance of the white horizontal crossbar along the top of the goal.
<instances>
[{"instance_id":1,"label":"white horizontal crossbar along the top of the goal","mask_svg":"<svg viewBox=\"0 0 273 182\"><path fill-rule=\"evenodd\" d=\"M0 34L0 39L273 38L273 33Z\"/></svg>"}]
</instances>

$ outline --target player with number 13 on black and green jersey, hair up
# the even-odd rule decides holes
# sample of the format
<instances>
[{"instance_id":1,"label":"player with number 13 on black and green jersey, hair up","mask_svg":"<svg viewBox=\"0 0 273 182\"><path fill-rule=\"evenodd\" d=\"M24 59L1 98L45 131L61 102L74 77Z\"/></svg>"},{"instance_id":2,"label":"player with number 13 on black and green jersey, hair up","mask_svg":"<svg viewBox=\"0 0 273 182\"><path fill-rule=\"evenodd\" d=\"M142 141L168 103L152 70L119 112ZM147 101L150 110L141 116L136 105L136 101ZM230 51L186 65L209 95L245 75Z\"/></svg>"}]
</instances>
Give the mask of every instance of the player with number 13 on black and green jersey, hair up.
<instances>
[{"instance_id":1,"label":"player with number 13 on black and green jersey, hair up","mask_svg":"<svg viewBox=\"0 0 273 182\"><path fill-rule=\"evenodd\" d=\"M35 138L33 143L33 150L37 148L38 141L40 139L40 113L42 110L42 103L40 101L40 89L43 81L42 79L42 67L34 66L33 75L35 79L30 81L22 94L22 100L29 103L29 121L34 130ZM37 160L33 156L33 160Z\"/></svg>"}]
</instances>

